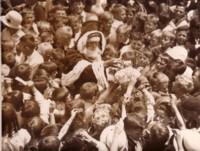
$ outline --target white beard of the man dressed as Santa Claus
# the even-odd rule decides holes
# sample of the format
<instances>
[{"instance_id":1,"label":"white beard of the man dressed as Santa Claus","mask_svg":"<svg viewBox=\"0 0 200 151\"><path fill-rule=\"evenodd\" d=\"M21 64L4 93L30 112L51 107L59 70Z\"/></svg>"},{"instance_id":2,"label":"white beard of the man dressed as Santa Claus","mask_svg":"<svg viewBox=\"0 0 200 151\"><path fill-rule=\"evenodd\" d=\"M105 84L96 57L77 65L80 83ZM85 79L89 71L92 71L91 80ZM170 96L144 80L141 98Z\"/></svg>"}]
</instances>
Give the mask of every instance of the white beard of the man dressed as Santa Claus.
<instances>
[{"instance_id":1,"label":"white beard of the man dressed as Santa Claus","mask_svg":"<svg viewBox=\"0 0 200 151\"><path fill-rule=\"evenodd\" d=\"M83 55L88 61L101 61L101 49L98 47L95 50L88 49L84 47Z\"/></svg>"}]
</instances>

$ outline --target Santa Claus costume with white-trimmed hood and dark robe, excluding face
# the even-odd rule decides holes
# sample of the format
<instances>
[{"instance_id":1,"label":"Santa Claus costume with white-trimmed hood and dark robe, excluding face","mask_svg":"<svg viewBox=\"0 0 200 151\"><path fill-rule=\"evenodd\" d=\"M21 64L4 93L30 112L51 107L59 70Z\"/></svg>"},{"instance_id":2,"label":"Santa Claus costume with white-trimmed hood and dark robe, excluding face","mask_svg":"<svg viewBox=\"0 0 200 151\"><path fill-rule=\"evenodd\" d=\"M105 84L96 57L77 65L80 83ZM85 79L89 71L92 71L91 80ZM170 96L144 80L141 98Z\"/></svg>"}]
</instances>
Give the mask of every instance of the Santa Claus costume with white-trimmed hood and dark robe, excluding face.
<instances>
[{"instance_id":1,"label":"Santa Claus costume with white-trimmed hood and dark robe, excluding face","mask_svg":"<svg viewBox=\"0 0 200 151\"><path fill-rule=\"evenodd\" d=\"M96 59L89 60L87 56L86 43L88 37L100 37L100 52L96 54ZM66 72L63 73L62 85L71 90L73 95L79 92L79 88L85 82L95 82L101 88L108 86L101 54L106 45L106 40L102 32L98 30L98 22L86 22L82 29L82 34L77 41L75 49L66 53Z\"/></svg>"}]
</instances>

